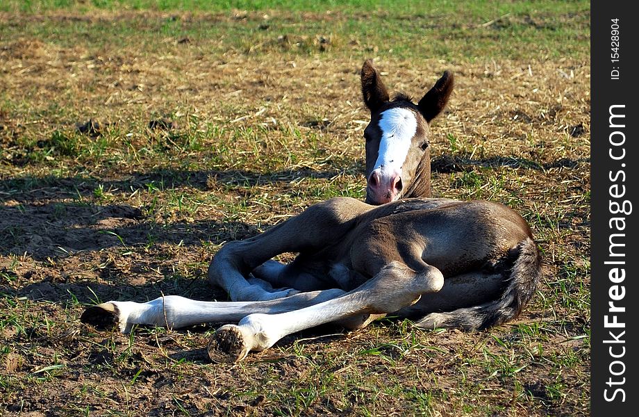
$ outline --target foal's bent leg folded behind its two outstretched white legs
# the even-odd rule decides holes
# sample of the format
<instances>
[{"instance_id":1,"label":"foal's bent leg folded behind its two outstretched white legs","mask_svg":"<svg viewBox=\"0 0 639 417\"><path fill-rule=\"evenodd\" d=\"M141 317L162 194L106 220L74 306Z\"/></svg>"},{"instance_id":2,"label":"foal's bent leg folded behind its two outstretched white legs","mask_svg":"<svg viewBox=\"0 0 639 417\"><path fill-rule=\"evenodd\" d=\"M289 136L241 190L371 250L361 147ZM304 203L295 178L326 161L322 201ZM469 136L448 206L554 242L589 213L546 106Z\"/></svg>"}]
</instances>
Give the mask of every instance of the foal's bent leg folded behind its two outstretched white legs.
<instances>
[{"instance_id":1,"label":"foal's bent leg folded behind its two outstretched white legs","mask_svg":"<svg viewBox=\"0 0 639 417\"><path fill-rule=\"evenodd\" d=\"M315 252L337 242L352 227L354 218L371 208L351 198L315 204L263 234L226 243L213 257L208 278L212 284L224 288L233 301L273 300L290 295L292 291L270 293L250 284L247 277L279 254Z\"/></svg>"}]
</instances>

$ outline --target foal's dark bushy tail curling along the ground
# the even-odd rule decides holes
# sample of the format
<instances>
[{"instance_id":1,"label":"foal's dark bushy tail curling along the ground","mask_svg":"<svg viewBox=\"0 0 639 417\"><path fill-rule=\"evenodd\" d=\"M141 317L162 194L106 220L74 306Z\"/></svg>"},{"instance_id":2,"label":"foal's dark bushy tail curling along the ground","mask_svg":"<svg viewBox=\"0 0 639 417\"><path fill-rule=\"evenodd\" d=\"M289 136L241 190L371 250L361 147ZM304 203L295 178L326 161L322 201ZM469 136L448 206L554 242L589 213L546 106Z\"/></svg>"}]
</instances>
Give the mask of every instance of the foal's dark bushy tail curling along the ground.
<instances>
[{"instance_id":1,"label":"foal's dark bushy tail curling along the ground","mask_svg":"<svg viewBox=\"0 0 639 417\"><path fill-rule=\"evenodd\" d=\"M542 275L542 265L537 245L531 238L522 240L515 250L519 253L511 268L508 284L499 299L445 313L430 313L416 323L417 327L481 330L517 317L535 292Z\"/></svg>"}]
</instances>

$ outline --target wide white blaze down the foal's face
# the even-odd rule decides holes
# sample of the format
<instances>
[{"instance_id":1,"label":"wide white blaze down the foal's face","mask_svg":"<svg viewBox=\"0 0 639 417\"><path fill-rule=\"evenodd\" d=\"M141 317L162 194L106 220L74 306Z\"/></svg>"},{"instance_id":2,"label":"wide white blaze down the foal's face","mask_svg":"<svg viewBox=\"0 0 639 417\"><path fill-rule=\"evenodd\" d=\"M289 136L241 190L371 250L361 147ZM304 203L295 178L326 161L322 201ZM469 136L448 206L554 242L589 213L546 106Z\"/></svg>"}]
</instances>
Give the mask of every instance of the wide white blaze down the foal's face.
<instances>
[{"instance_id":1,"label":"wide white blaze down the foal's face","mask_svg":"<svg viewBox=\"0 0 639 417\"><path fill-rule=\"evenodd\" d=\"M410 141L417 132L415 113L408 108L391 108L381 113L379 129L381 140L373 170L381 170L384 174L401 174L401 165L406 161Z\"/></svg>"}]
</instances>

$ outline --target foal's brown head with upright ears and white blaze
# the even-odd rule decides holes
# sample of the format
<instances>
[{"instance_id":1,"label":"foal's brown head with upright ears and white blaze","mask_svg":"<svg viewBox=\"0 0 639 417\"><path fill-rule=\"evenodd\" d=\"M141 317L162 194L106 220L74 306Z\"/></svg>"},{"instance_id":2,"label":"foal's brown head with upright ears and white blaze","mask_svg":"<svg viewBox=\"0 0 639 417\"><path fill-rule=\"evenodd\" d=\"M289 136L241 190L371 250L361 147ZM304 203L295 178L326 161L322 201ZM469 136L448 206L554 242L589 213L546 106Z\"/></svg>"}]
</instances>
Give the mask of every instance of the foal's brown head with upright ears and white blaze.
<instances>
[{"instance_id":1,"label":"foal's brown head with upright ears and white blaze","mask_svg":"<svg viewBox=\"0 0 639 417\"><path fill-rule=\"evenodd\" d=\"M362 93L370 110L364 130L368 204L430 197L429 122L444 110L452 90L453 75L447 71L419 103L406 95L391 100L372 61L365 61Z\"/></svg>"}]
</instances>

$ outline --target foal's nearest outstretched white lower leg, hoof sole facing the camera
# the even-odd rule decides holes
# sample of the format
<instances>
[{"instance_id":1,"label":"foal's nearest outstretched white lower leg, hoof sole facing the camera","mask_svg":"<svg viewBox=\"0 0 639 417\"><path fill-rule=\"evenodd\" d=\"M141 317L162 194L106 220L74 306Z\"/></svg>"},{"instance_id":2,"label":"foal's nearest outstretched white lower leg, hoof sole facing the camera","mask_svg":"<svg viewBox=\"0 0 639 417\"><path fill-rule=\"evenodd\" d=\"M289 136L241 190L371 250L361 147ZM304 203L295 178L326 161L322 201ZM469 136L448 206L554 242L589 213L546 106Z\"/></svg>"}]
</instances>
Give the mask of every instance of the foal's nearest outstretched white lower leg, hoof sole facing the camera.
<instances>
[{"instance_id":1,"label":"foal's nearest outstretched white lower leg, hoof sole facing the camera","mask_svg":"<svg viewBox=\"0 0 639 417\"><path fill-rule=\"evenodd\" d=\"M224 325L211 338L208 354L213 361L240 361L251 350L265 350L284 336L303 329L354 316L367 318L370 314L394 313L415 304L422 294L440 291L443 285L442 272L433 266L426 265L421 272L415 272L394 261L340 297L286 313L251 314L238 325Z\"/></svg>"}]
</instances>

